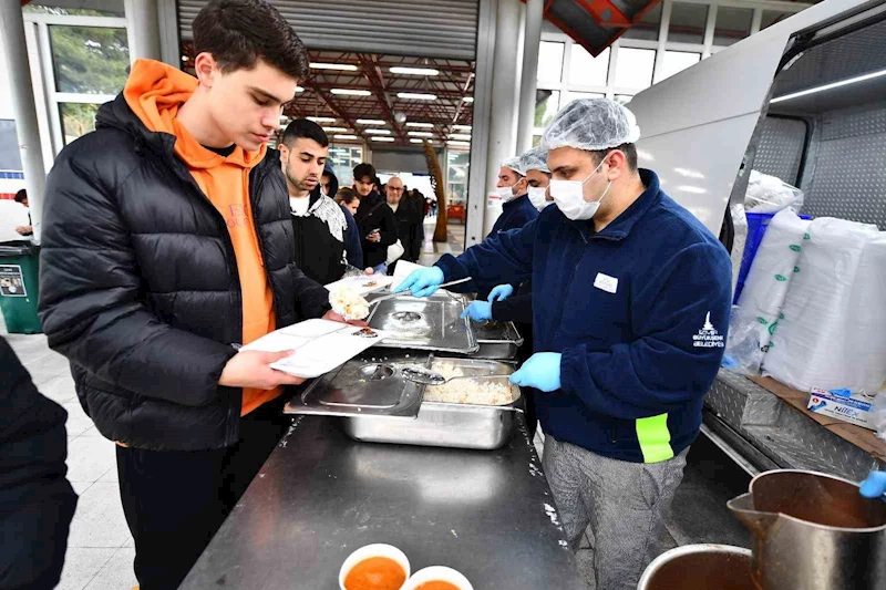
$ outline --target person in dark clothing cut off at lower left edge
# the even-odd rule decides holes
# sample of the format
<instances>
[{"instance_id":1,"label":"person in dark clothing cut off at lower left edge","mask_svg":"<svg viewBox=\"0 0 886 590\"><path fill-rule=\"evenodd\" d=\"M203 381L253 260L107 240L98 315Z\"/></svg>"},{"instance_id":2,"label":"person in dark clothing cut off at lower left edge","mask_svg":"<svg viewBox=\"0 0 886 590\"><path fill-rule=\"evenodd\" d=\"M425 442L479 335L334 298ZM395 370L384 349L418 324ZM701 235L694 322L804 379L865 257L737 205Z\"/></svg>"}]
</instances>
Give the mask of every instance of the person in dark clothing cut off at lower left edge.
<instances>
[{"instance_id":1,"label":"person in dark clothing cut off at lower left edge","mask_svg":"<svg viewBox=\"0 0 886 590\"><path fill-rule=\"evenodd\" d=\"M0 338L0 588L59 583L78 497L65 478L65 410Z\"/></svg>"}]
</instances>

